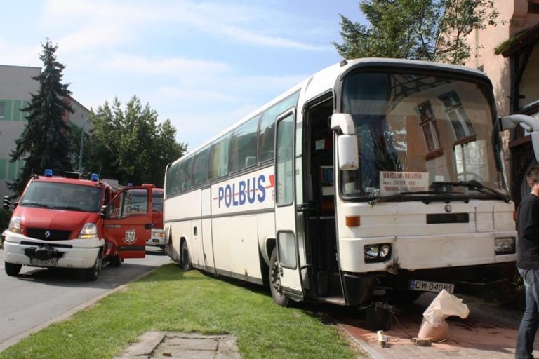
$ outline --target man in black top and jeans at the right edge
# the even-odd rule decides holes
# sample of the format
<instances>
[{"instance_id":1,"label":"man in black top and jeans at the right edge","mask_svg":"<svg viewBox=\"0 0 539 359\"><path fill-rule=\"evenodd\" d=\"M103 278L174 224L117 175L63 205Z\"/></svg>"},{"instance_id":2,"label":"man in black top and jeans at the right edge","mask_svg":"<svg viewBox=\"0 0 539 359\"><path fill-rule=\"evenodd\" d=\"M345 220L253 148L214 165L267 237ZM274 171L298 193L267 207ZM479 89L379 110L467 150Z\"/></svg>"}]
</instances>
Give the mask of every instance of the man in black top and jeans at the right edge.
<instances>
[{"instance_id":1,"label":"man in black top and jeans at the right edge","mask_svg":"<svg viewBox=\"0 0 539 359\"><path fill-rule=\"evenodd\" d=\"M517 209L517 269L524 280L526 308L519 327L516 359L533 359L533 341L539 327L539 166L526 173L531 192Z\"/></svg>"}]
</instances>

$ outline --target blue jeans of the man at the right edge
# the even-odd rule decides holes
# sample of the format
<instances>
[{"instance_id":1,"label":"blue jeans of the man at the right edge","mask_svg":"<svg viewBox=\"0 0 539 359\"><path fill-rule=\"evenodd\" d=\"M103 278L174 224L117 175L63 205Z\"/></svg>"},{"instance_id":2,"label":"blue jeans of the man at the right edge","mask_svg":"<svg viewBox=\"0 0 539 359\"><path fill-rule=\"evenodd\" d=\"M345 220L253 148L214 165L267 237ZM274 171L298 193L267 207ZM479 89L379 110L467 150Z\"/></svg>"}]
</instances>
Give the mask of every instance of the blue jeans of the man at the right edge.
<instances>
[{"instance_id":1,"label":"blue jeans of the man at the right edge","mask_svg":"<svg viewBox=\"0 0 539 359\"><path fill-rule=\"evenodd\" d=\"M533 341L539 327L539 269L521 269L526 290L526 309L522 315L514 358L533 359Z\"/></svg>"}]
</instances>

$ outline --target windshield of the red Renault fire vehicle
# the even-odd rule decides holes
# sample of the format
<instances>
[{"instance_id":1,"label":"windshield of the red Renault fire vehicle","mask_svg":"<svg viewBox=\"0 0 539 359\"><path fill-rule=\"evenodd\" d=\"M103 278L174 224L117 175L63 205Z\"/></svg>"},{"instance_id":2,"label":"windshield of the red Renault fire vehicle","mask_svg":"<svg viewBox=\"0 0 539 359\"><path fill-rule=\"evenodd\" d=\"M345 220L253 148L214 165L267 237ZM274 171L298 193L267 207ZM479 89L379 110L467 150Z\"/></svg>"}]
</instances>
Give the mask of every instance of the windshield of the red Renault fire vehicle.
<instances>
[{"instance_id":1,"label":"windshield of the red Renault fire vehicle","mask_svg":"<svg viewBox=\"0 0 539 359\"><path fill-rule=\"evenodd\" d=\"M100 200L100 187L34 181L29 184L27 191L20 200L20 205L57 210L98 212Z\"/></svg>"}]
</instances>

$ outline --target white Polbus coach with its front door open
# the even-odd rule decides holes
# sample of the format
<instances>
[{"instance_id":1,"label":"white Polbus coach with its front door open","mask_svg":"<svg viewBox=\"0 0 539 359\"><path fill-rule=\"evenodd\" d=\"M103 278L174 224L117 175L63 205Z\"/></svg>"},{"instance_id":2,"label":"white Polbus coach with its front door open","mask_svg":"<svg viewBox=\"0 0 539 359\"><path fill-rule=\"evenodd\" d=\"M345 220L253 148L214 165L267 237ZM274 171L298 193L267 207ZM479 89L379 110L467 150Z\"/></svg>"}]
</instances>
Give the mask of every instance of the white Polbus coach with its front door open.
<instances>
[{"instance_id":1,"label":"white Polbus coach with its front door open","mask_svg":"<svg viewBox=\"0 0 539 359\"><path fill-rule=\"evenodd\" d=\"M342 61L168 165L166 252L269 285L281 306L507 280L517 233L500 130L539 125L501 120L482 72Z\"/></svg>"}]
</instances>

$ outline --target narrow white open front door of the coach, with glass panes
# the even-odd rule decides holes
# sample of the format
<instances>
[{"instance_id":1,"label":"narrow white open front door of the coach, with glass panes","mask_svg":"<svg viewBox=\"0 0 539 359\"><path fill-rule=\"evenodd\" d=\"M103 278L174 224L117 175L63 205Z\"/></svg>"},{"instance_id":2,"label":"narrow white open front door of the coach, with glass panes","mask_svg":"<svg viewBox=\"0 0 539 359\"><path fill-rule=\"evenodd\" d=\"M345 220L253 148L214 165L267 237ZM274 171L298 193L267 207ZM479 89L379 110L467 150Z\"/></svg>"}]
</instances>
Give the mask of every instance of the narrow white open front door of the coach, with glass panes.
<instances>
[{"instance_id":1,"label":"narrow white open front door of the coach, with glass panes","mask_svg":"<svg viewBox=\"0 0 539 359\"><path fill-rule=\"evenodd\" d=\"M295 208L295 111L277 118L275 138L275 228L283 294L303 298Z\"/></svg>"}]
</instances>

